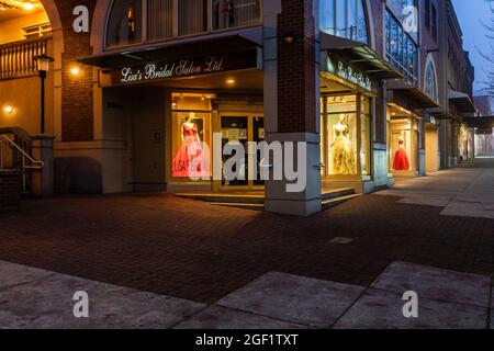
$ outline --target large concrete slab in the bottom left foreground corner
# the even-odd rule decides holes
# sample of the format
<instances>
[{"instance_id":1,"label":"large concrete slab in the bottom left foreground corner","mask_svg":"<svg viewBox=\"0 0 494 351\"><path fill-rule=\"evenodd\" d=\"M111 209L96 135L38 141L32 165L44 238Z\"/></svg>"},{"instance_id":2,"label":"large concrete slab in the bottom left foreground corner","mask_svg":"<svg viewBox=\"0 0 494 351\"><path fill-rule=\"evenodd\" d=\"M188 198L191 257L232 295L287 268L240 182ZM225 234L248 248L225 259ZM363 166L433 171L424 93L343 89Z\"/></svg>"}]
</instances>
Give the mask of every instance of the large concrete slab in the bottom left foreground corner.
<instances>
[{"instance_id":1,"label":"large concrete slab in the bottom left foreground corner","mask_svg":"<svg viewBox=\"0 0 494 351\"><path fill-rule=\"evenodd\" d=\"M74 317L74 294L89 294L89 318ZM0 291L0 310L14 318L2 327L15 328L26 320L29 328L169 328L204 304L138 292L132 288L63 274Z\"/></svg>"}]
</instances>

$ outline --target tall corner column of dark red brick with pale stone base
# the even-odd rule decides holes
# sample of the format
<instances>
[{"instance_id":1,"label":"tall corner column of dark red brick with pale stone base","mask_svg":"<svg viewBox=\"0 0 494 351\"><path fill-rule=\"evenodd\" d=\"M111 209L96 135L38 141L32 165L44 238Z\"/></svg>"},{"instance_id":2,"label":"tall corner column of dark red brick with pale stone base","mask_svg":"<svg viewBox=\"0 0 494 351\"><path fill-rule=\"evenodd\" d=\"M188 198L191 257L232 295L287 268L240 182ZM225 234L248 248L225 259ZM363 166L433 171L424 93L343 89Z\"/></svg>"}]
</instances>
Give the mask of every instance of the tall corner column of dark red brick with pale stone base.
<instances>
[{"instance_id":1,"label":"tall corner column of dark red brick with pale stone base","mask_svg":"<svg viewBox=\"0 0 494 351\"><path fill-rule=\"evenodd\" d=\"M305 190L289 192L287 185L292 182L268 181L266 208L307 216L321 211L318 1L263 3L267 141L306 143L307 147ZM293 43L287 43L287 36Z\"/></svg>"}]
</instances>

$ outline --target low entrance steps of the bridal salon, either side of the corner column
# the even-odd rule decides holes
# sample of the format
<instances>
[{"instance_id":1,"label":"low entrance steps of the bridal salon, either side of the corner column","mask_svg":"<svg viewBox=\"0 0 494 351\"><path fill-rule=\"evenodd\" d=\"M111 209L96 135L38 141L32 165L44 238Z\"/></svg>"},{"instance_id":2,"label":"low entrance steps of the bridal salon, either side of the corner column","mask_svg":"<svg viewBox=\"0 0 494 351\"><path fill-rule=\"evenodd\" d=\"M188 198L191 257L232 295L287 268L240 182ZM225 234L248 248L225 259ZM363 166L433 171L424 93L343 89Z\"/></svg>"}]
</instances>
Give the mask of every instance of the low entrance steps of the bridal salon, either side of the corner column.
<instances>
[{"instance_id":1,"label":"low entrance steps of the bridal salon, either side of the corner column","mask_svg":"<svg viewBox=\"0 0 494 351\"><path fill-rule=\"evenodd\" d=\"M225 193L177 193L178 197L204 201L214 206L236 207L244 210L263 211L265 193L262 191L254 192L225 192ZM353 189L335 189L323 192L323 210L327 210L346 201L360 196Z\"/></svg>"}]
</instances>

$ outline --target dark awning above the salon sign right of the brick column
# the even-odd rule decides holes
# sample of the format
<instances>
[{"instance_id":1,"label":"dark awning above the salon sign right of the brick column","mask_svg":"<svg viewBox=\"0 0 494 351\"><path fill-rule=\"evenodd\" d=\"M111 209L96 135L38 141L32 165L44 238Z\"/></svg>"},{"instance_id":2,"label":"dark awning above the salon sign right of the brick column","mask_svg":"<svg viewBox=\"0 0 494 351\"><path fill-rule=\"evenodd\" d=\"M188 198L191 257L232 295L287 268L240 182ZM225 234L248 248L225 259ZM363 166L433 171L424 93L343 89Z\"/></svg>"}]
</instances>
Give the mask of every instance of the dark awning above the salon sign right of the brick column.
<instances>
[{"instance_id":1,"label":"dark awning above the salon sign right of the brick column","mask_svg":"<svg viewBox=\"0 0 494 351\"><path fill-rule=\"evenodd\" d=\"M401 72L363 43L321 33L321 50L338 55L374 80L403 78Z\"/></svg>"}]
</instances>

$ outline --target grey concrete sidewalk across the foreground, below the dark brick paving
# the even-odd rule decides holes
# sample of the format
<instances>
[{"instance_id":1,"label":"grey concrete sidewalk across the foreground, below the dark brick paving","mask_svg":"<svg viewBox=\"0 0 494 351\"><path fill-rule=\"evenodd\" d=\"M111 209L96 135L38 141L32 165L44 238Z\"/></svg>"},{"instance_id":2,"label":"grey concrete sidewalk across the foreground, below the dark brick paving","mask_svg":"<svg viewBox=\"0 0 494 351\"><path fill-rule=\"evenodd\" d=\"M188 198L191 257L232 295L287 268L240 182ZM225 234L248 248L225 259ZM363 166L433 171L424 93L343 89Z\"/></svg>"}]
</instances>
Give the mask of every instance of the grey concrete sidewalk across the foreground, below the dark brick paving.
<instances>
[{"instance_id":1,"label":"grey concrete sidewalk across the foreground, below the dark brick paving","mask_svg":"<svg viewBox=\"0 0 494 351\"><path fill-rule=\"evenodd\" d=\"M0 328L467 328L491 320L491 278L392 263L370 286L267 273L213 304L139 292L0 262ZM89 318L72 296L89 296ZM418 295L418 317L403 315L403 294Z\"/></svg>"}]
</instances>

